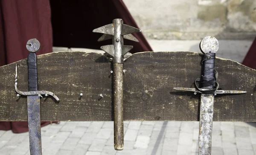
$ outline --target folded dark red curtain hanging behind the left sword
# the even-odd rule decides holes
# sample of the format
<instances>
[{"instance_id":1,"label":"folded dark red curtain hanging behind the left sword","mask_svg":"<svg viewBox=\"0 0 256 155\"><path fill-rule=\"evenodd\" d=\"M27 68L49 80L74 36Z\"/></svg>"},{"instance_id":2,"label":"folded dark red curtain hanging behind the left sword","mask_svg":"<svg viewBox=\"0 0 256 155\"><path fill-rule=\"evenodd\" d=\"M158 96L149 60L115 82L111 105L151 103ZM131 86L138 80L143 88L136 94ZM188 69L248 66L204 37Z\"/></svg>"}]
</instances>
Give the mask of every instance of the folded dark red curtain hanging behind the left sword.
<instances>
[{"instance_id":1,"label":"folded dark red curtain hanging behind the left sword","mask_svg":"<svg viewBox=\"0 0 256 155\"><path fill-rule=\"evenodd\" d=\"M0 66L25 59L26 42L37 38L41 50L52 52L52 26L49 0L0 1ZM49 122L41 123L42 126ZM27 132L27 122L0 122L0 130Z\"/></svg>"}]
</instances>

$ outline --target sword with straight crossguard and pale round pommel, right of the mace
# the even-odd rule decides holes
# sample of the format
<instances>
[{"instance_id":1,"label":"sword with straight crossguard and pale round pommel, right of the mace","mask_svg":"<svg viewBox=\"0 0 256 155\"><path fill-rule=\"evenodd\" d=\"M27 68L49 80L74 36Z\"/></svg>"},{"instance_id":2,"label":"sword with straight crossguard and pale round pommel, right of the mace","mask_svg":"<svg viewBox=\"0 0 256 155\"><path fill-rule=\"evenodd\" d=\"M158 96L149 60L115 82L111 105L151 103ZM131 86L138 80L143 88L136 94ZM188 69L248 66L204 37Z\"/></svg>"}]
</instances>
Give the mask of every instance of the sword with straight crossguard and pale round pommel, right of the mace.
<instances>
[{"instance_id":1,"label":"sword with straight crossguard and pale round pommel, right of the mace","mask_svg":"<svg viewBox=\"0 0 256 155\"><path fill-rule=\"evenodd\" d=\"M175 87L175 90L192 91L201 93L200 121L199 121L199 155L211 155L212 147L212 119L214 96L224 93L246 93L240 90L218 90L218 72L214 69L215 53L218 51L219 42L215 37L205 37L200 42L200 50L204 53L202 60L201 79L195 80L195 88ZM196 82L200 82L198 88Z\"/></svg>"}]
</instances>

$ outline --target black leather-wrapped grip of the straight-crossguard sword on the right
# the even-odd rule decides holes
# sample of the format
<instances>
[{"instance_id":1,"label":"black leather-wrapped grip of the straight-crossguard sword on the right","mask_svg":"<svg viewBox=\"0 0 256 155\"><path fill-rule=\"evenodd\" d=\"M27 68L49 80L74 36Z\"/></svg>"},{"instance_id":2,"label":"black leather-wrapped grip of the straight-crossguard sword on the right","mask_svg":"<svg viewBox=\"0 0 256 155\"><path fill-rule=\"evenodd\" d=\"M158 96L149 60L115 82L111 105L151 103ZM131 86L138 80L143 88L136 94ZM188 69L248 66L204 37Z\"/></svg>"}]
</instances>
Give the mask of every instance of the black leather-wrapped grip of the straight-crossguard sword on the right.
<instances>
[{"instance_id":1,"label":"black leather-wrapped grip of the straight-crossguard sword on the right","mask_svg":"<svg viewBox=\"0 0 256 155\"><path fill-rule=\"evenodd\" d=\"M201 76L201 87L204 89L215 88L215 69L214 69L215 53L204 54L202 60L203 73Z\"/></svg>"}]
</instances>

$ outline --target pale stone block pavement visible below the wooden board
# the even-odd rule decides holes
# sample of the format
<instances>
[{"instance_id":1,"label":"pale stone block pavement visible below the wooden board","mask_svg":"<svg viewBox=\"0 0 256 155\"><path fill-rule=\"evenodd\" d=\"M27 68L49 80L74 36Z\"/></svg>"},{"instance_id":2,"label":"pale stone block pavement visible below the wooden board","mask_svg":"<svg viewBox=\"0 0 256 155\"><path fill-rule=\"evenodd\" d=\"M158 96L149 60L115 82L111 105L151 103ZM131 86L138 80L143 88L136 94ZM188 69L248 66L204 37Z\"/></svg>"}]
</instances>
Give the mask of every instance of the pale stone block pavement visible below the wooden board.
<instances>
[{"instance_id":1,"label":"pale stone block pavement visible below the wooden board","mask_svg":"<svg viewBox=\"0 0 256 155\"><path fill-rule=\"evenodd\" d=\"M113 148L113 122L42 127L43 155L198 155L198 122L125 122L124 150ZM29 155L28 132L0 131L0 155ZM256 123L214 122L212 155L256 155Z\"/></svg>"}]
</instances>

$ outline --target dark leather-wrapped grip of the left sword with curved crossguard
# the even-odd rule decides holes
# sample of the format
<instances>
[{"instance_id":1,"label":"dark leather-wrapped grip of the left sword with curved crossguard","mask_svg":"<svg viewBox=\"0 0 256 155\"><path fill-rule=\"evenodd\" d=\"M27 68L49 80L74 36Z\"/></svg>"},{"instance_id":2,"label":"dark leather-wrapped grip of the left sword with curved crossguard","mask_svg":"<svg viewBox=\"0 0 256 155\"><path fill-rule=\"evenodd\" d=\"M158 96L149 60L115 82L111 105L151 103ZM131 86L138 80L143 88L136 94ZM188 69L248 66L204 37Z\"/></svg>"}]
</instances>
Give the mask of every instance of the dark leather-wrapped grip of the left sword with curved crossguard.
<instances>
[{"instance_id":1,"label":"dark leather-wrapped grip of the left sword with curved crossguard","mask_svg":"<svg viewBox=\"0 0 256 155\"><path fill-rule=\"evenodd\" d=\"M29 52L28 56L29 91L38 90L36 54Z\"/></svg>"}]
</instances>

